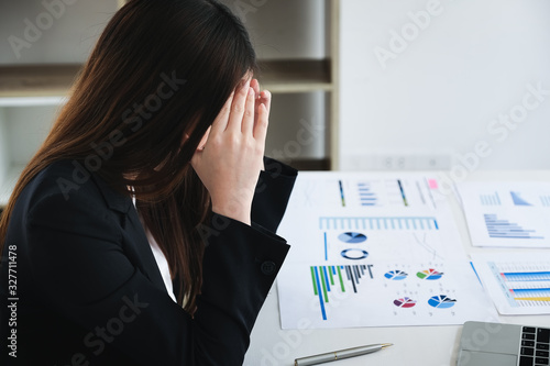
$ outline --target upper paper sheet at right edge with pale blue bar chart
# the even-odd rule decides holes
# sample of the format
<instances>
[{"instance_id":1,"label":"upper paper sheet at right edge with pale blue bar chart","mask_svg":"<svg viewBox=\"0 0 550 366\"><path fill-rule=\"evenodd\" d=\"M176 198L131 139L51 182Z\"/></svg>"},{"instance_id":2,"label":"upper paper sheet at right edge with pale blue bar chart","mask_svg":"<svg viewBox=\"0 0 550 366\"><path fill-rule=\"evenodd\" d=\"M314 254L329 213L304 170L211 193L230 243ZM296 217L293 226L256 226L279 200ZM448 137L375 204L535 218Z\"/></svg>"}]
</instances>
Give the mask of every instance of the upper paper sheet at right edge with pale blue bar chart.
<instances>
[{"instance_id":1,"label":"upper paper sheet at right edge with pale blue bar chart","mask_svg":"<svg viewBox=\"0 0 550 366\"><path fill-rule=\"evenodd\" d=\"M550 247L550 184L459 185L475 246Z\"/></svg>"}]
</instances>

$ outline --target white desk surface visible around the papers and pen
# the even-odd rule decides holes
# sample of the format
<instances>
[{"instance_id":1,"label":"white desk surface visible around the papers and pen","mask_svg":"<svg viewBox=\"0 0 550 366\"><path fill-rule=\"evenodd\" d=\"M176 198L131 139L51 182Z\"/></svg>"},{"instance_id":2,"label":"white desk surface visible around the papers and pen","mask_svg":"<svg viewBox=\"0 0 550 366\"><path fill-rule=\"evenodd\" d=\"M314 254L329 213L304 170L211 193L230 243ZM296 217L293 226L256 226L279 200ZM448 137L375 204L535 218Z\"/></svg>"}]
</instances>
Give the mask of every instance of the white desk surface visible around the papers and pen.
<instances>
[{"instance_id":1,"label":"white desk surface visible around the papers and pen","mask_svg":"<svg viewBox=\"0 0 550 366\"><path fill-rule=\"evenodd\" d=\"M418 171L417 171L418 173ZM431 171L433 174L433 171ZM550 170L540 171L474 171L468 180L546 180ZM449 203L466 253L501 251L473 247L468 226L453 196ZM290 243L292 244L292 243ZM528 251L528 249L502 249ZM376 317L376 314L373 314ZM503 323L543 325L550 328L550 315L499 317ZM394 326L333 330L280 330L277 289L274 286L260 312L252 341L244 359L246 366L290 366L296 357L374 343L393 343L392 347L370 355L329 363L334 366L403 365L449 366L457 364L461 325Z\"/></svg>"}]
</instances>

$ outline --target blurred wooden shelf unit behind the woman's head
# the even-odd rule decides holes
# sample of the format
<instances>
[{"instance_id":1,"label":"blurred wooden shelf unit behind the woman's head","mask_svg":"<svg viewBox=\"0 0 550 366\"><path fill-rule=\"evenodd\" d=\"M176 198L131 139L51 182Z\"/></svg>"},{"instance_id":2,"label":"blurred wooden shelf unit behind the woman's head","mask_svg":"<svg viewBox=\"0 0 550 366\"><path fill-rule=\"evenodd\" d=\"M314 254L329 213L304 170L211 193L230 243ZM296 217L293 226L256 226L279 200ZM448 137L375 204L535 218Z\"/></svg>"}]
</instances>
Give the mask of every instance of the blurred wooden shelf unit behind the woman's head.
<instances>
[{"instance_id":1,"label":"blurred wooden shelf unit behind the woman's head","mask_svg":"<svg viewBox=\"0 0 550 366\"><path fill-rule=\"evenodd\" d=\"M273 93L265 154L301 170L337 168L339 0L221 0L246 26ZM80 1L31 47L0 44L0 209L47 135L91 47L124 0ZM241 4L241 5L240 5ZM243 11L244 9L244 11ZM10 2L0 38L23 37L41 2Z\"/></svg>"}]
</instances>

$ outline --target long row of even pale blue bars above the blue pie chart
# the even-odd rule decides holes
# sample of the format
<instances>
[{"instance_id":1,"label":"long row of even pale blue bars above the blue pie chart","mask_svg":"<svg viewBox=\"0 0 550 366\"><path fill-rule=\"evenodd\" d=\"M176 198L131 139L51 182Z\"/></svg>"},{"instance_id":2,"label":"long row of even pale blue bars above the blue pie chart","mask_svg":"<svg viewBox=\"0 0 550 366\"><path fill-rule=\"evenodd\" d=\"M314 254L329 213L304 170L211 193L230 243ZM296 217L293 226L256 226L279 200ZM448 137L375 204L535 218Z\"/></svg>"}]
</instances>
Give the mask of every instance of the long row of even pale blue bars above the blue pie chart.
<instances>
[{"instance_id":1,"label":"long row of even pale blue bars above the blue pie chart","mask_svg":"<svg viewBox=\"0 0 550 366\"><path fill-rule=\"evenodd\" d=\"M319 218L321 230L439 230L432 217Z\"/></svg>"}]
</instances>

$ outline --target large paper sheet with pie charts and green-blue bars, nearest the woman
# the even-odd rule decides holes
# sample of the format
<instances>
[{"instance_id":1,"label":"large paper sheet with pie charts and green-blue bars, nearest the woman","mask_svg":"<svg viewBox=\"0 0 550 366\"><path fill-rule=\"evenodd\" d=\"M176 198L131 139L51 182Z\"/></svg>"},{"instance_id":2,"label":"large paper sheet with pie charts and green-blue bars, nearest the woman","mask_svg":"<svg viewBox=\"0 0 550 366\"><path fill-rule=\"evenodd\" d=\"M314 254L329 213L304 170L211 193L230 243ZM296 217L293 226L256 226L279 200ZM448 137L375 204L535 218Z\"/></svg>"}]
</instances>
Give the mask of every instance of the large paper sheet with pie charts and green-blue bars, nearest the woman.
<instances>
[{"instance_id":1,"label":"large paper sheet with pie charts and green-blue bars, nearest the woman","mask_svg":"<svg viewBox=\"0 0 550 366\"><path fill-rule=\"evenodd\" d=\"M422 204L411 181L427 179L300 174L277 232L292 245L277 277L284 329L462 324L495 315L446 201L424 190ZM328 195L340 202L304 204L305 196L319 202Z\"/></svg>"}]
</instances>

